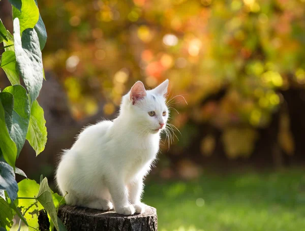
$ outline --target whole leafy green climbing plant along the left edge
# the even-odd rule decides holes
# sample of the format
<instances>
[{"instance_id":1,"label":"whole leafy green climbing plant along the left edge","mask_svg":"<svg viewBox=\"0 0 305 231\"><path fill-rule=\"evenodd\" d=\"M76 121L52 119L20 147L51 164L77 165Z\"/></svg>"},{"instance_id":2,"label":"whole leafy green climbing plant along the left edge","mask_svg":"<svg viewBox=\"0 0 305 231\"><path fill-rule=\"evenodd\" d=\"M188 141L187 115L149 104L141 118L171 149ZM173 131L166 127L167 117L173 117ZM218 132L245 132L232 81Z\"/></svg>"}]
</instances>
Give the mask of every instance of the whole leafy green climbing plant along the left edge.
<instances>
[{"instance_id":1,"label":"whole leafy green climbing plant along the left edge","mask_svg":"<svg viewBox=\"0 0 305 231\"><path fill-rule=\"evenodd\" d=\"M23 222L29 230L38 230L41 209L47 211L52 227L66 230L57 217L63 197L52 192L47 178L41 177L40 185L29 179L17 184L15 179L16 173L26 177L15 167L25 140L36 155L44 150L47 141L44 111L37 102L44 79L41 50L47 34L36 0L9 2L13 12L13 35L0 19L0 43L5 50L0 67L12 84L0 90L0 230L9 230L15 215L20 217L19 229Z\"/></svg>"}]
</instances>

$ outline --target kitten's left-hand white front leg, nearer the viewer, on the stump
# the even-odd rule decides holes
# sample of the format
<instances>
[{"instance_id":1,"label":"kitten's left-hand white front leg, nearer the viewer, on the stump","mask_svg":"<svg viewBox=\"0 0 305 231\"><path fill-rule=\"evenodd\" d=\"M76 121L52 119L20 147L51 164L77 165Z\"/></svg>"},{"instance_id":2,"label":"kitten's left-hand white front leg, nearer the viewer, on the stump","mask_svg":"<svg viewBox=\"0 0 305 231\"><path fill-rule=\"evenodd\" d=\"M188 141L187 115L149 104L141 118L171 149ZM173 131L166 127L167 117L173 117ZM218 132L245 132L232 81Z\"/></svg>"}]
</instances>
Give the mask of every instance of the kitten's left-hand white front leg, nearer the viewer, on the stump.
<instances>
[{"instance_id":1,"label":"kitten's left-hand white front leg, nearer the viewer, on the stump","mask_svg":"<svg viewBox=\"0 0 305 231\"><path fill-rule=\"evenodd\" d=\"M112 180L109 183L109 192L116 213L123 215L135 213L135 208L128 201L128 190L123 181Z\"/></svg>"}]
</instances>

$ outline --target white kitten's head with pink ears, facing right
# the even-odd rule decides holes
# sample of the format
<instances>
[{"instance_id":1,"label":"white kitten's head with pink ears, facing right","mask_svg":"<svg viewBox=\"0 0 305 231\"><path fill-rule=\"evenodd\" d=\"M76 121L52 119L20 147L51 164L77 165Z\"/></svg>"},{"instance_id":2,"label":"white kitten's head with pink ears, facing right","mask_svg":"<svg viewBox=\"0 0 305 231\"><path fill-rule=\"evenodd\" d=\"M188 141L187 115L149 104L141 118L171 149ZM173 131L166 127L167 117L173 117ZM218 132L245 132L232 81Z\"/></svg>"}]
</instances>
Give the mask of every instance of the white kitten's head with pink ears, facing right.
<instances>
[{"instance_id":1,"label":"white kitten's head with pink ears, facing right","mask_svg":"<svg viewBox=\"0 0 305 231\"><path fill-rule=\"evenodd\" d=\"M168 80L165 80L156 88L145 90L143 83L138 81L124 96L121 110L135 119L143 133L156 134L165 129L168 119L167 87Z\"/></svg>"}]
</instances>

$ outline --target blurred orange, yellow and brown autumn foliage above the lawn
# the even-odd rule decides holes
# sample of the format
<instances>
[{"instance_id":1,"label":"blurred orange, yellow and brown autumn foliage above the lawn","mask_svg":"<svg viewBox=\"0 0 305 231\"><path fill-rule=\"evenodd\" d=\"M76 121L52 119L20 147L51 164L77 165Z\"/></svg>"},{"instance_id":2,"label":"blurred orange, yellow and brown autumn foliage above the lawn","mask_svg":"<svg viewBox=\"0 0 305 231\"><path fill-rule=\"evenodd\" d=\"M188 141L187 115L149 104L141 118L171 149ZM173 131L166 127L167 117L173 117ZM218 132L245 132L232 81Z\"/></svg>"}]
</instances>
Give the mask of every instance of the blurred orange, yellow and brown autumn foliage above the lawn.
<instances>
[{"instance_id":1,"label":"blurred orange, yellow and brown autumn foliage above the lawn","mask_svg":"<svg viewBox=\"0 0 305 231\"><path fill-rule=\"evenodd\" d=\"M114 118L135 81L153 88L168 78L170 123L182 135L175 131L170 149L163 146L163 177L192 178L211 163L304 162L303 0L46 0L39 7L48 31L40 96L50 108L48 143L63 140L65 128L70 143L56 147L69 148L77 133L70 127Z\"/></svg>"}]
</instances>

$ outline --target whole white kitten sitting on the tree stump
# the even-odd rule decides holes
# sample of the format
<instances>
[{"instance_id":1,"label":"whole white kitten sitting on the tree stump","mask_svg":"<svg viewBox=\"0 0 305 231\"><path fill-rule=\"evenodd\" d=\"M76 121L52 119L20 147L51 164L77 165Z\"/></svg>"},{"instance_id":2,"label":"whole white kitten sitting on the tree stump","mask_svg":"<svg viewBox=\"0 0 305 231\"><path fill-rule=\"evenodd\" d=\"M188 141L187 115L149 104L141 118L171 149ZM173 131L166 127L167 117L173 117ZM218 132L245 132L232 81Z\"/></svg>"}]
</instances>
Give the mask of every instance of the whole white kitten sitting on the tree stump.
<instances>
[{"instance_id":1,"label":"whole white kitten sitting on the tree stump","mask_svg":"<svg viewBox=\"0 0 305 231\"><path fill-rule=\"evenodd\" d=\"M123 96L119 115L86 127L60 160L56 181L69 205L142 213L143 178L159 151L165 128L168 80L153 90L142 82Z\"/></svg>"}]
</instances>

